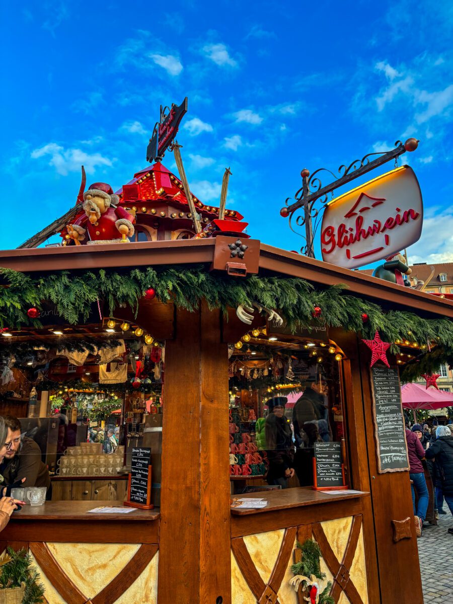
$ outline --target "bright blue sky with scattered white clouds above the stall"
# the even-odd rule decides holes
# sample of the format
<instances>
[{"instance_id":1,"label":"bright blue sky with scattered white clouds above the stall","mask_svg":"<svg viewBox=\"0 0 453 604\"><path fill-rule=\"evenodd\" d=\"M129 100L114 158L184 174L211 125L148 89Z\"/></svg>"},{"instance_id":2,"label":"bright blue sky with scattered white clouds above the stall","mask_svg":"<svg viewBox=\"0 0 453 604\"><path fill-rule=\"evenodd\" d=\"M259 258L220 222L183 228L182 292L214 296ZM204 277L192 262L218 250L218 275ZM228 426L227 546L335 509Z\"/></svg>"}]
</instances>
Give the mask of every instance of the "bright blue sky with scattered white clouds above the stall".
<instances>
[{"instance_id":1,"label":"bright blue sky with scattered white clouds above the stall","mask_svg":"<svg viewBox=\"0 0 453 604\"><path fill-rule=\"evenodd\" d=\"M2 248L74 205L81 164L88 184L129 181L159 105L187 95L178 140L191 189L218 205L231 166L228 206L252 237L300 249L279 210L303 167L335 171L414 136L425 223L410 260L453 260L451 2L1 6L0 175L14 208ZM176 170L171 153L163 163Z\"/></svg>"}]
</instances>

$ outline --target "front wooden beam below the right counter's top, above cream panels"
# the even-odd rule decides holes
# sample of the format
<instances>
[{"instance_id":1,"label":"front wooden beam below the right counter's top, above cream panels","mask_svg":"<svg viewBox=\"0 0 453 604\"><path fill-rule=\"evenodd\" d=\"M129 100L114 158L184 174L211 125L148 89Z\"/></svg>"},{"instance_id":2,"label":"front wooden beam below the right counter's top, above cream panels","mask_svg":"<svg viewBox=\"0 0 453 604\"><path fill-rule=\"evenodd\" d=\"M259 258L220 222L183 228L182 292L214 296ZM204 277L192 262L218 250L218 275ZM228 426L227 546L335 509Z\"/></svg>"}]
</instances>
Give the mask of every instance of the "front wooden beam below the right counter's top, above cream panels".
<instances>
[{"instance_id":1,"label":"front wooden beam below the right counter's top, above cream panels","mask_svg":"<svg viewBox=\"0 0 453 604\"><path fill-rule=\"evenodd\" d=\"M359 499L326 503L323 506L292 507L250 516L231 516L231 537L237 538L300 524L314 524L355 516L362 513L362 502L367 498L369 495Z\"/></svg>"}]
</instances>

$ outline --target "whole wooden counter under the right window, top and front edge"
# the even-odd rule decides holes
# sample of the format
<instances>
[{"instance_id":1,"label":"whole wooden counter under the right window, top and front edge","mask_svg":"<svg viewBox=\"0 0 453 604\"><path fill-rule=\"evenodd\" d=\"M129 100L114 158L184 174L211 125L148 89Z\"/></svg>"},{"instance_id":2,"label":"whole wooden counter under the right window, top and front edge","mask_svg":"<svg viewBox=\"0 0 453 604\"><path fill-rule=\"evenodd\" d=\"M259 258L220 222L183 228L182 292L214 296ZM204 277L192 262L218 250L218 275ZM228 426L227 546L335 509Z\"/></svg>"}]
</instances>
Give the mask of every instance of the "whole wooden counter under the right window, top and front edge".
<instances>
[{"instance_id":1,"label":"whole wooden counter under the right window, top and front edge","mask_svg":"<svg viewBox=\"0 0 453 604\"><path fill-rule=\"evenodd\" d=\"M269 505L259 510L231 508L232 538L362 514L362 502L370 493L327 495L310 487L297 487L240 496L263 498Z\"/></svg>"}]
</instances>

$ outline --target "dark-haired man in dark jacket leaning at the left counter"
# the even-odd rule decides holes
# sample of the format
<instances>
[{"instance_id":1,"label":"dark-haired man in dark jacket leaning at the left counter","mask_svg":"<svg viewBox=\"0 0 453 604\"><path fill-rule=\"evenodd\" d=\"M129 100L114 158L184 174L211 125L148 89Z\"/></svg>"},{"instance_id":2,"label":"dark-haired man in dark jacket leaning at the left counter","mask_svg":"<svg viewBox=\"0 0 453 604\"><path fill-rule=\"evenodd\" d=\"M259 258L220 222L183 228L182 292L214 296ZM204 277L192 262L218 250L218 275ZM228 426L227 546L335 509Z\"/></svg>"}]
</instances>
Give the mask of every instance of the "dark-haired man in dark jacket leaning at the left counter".
<instances>
[{"instance_id":1,"label":"dark-haired man in dark jacket leaning at the left counter","mask_svg":"<svg viewBox=\"0 0 453 604\"><path fill-rule=\"evenodd\" d=\"M5 486L47 487L46 499L52 496L50 476L47 466L42 462L41 449L28 436L21 435L21 422L17 417L4 416L8 428L5 442L5 454L0 460L0 475ZM25 479L25 480L24 480ZM7 494L2 489L1 494Z\"/></svg>"}]
</instances>

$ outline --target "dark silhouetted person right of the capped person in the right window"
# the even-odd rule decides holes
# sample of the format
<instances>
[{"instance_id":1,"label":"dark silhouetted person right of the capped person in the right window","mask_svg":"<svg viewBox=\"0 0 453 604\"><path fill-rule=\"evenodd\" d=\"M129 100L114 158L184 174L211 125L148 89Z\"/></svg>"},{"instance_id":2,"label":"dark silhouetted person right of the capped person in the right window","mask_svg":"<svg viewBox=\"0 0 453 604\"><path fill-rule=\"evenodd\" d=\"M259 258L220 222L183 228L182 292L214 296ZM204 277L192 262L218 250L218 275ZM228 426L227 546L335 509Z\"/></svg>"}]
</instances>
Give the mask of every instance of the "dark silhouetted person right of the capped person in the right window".
<instances>
[{"instance_id":1,"label":"dark silhouetted person right of the capped person in the right window","mask_svg":"<svg viewBox=\"0 0 453 604\"><path fill-rule=\"evenodd\" d=\"M322 440L331 440L330 435L327 439L324 438L326 429L323 430L323 425L327 425L328 430L327 407L324 397L326 387L327 384L323 379L318 382L313 381L296 401L292 410L292 424L296 442L294 466L300 486L311 486L313 484L315 443ZM323 431L322 435L320 431Z\"/></svg>"}]
</instances>

